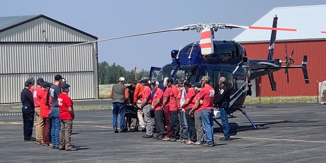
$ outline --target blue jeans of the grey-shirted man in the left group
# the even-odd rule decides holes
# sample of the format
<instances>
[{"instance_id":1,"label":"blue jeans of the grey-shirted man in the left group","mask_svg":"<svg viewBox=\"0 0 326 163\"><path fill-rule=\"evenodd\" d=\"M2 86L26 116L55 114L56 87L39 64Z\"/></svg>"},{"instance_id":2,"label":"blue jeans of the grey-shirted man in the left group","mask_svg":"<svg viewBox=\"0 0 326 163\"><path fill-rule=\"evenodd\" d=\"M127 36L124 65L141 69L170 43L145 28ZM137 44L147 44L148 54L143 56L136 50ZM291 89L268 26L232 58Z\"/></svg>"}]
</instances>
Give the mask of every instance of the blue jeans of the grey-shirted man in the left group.
<instances>
[{"instance_id":1,"label":"blue jeans of the grey-shirted man in the left group","mask_svg":"<svg viewBox=\"0 0 326 163\"><path fill-rule=\"evenodd\" d=\"M60 114L58 107L52 107L51 109L51 120L52 120L52 128L51 128L51 142L52 146L60 145Z\"/></svg>"}]
</instances>

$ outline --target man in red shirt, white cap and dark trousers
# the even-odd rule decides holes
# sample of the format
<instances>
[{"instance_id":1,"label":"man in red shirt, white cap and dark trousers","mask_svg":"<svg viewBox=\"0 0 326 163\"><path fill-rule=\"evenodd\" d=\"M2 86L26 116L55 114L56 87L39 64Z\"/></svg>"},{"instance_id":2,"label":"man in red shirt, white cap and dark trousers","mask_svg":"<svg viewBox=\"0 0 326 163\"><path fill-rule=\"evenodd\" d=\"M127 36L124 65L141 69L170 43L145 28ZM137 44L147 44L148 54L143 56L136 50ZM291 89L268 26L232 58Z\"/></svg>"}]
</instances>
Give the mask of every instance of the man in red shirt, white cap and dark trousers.
<instances>
[{"instance_id":1,"label":"man in red shirt, white cap and dark trousers","mask_svg":"<svg viewBox=\"0 0 326 163\"><path fill-rule=\"evenodd\" d=\"M152 85L155 89L152 101L152 110L154 111L156 128L156 137L153 137L153 139L162 140L164 138L164 112L161 108L163 104L163 91L158 87L159 83L157 81Z\"/></svg>"}]
</instances>

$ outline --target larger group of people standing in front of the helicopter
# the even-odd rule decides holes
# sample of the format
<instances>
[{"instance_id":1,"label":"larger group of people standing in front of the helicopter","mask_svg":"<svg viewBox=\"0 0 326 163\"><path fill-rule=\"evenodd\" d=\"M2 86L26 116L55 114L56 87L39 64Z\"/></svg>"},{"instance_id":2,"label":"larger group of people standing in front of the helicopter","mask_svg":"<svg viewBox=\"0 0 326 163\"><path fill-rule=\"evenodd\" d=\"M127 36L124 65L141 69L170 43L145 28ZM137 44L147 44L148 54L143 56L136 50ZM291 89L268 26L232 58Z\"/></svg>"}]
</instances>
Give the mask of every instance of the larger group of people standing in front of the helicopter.
<instances>
[{"instance_id":1,"label":"larger group of people standing in front of the helicopter","mask_svg":"<svg viewBox=\"0 0 326 163\"><path fill-rule=\"evenodd\" d=\"M111 91L115 133L127 131L125 107L134 104L138 108L139 125L142 131L146 132L143 138L212 147L214 146L213 108L215 105L220 108L224 131L224 137L220 140L231 140L227 114L230 93L225 77L220 78L220 91L216 94L210 86L209 76L203 76L201 83L194 85L184 78L165 78L164 90L159 88L157 81L151 83L147 78L142 78L138 85L135 80L131 81L133 85L128 86L129 88L124 83L124 77L120 77L119 83L114 85ZM130 95L130 88L133 95ZM117 124L119 113L120 131ZM165 126L167 126L166 135Z\"/></svg>"}]
</instances>

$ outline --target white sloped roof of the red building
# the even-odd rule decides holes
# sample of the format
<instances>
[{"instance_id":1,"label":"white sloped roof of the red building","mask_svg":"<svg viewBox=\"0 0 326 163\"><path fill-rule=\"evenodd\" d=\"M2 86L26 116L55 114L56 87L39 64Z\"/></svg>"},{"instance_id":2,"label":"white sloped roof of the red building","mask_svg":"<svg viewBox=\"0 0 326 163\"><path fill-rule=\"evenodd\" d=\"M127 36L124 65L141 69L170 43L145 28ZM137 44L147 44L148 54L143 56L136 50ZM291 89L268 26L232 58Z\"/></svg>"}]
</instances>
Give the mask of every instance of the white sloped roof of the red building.
<instances>
[{"instance_id":1,"label":"white sloped roof of the red building","mask_svg":"<svg viewBox=\"0 0 326 163\"><path fill-rule=\"evenodd\" d=\"M269 11L251 26L273 25L273 18L278 16L278 28L290 28L297 30L326 31L326 5L317 6L297 6L297 7L278 7ZM261 42L270 40L271 31L269 30L245 30L233 40L238 42ZM307 40L325 39L326 34L287 32L278 31L276 40Z\"/></svg>"}]
</instances>

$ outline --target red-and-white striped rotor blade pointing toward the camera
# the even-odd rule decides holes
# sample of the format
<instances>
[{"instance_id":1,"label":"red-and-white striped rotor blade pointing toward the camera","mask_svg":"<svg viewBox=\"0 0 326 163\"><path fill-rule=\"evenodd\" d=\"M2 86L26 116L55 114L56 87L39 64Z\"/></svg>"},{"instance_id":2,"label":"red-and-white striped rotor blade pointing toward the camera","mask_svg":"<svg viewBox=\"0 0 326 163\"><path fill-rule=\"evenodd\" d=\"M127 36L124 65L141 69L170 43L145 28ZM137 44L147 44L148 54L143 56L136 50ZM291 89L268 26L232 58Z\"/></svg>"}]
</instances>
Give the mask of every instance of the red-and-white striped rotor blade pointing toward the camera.
<instances>
[{"instance_id":1,"label":"red-and-white striped rotor blade pointing toward the camera","mask_svg":"<svg viewBox=\"0 0 326 163\"><path fill-rule=\"evenodd\" d=\"M204 28L201 32L199 45L204 56L214 52L212 30L210 28Z\"/></svg>"}]
</instances>

